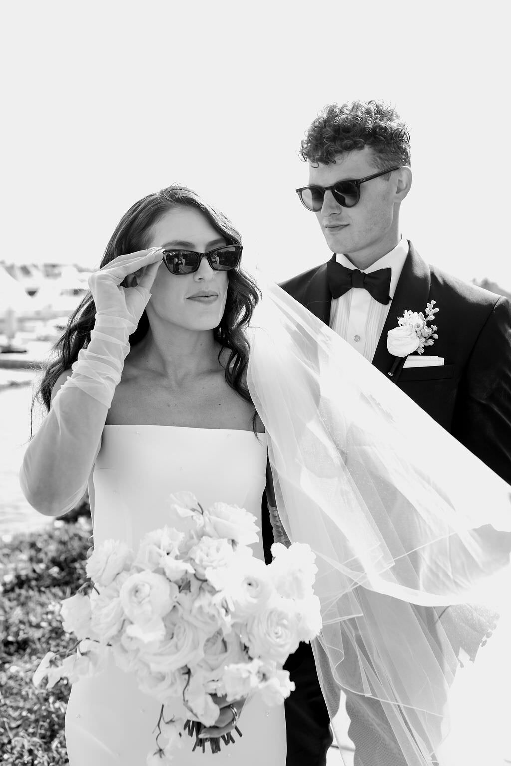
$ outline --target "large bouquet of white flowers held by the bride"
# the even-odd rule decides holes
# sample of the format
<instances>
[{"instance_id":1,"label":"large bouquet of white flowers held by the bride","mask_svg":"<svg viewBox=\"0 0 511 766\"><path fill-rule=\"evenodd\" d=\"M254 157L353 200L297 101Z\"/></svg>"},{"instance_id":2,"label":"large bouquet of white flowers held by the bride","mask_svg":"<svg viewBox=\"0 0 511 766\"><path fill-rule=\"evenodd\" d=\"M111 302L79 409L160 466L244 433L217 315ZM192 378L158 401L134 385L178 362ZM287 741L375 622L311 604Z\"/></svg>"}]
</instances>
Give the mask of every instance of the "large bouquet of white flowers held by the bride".
<instances>
[{"instance_id":1,"label":"large bouquet of white flowers held by the bride","mask_svg":"<svg viewBox=\"0 0 511 766\"><path fill-rule=\"evenodd\" d=\"M148 766L164 766L183 731L195 736L194 749L209 741L218 751L219 738L198 738L218 719L218 697L258 693L268 705L282 704L294 684L281 666L321 629L309 545L275 543L266 565L248 547L258 528L244 509L224 502L203 509L181 492L170 496L170 512L176 525L146 534L136 552L116 540L94 549L91 583L61 607L77 651L62 661L48 652L34 673L36 686L44 677L48 686L74 683L104 669L109 655L134 673L139 689L161 703ZM186 720L165 719L165 705L175 710L176 699Z\"/></svg>"}]
</instances>

